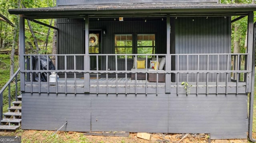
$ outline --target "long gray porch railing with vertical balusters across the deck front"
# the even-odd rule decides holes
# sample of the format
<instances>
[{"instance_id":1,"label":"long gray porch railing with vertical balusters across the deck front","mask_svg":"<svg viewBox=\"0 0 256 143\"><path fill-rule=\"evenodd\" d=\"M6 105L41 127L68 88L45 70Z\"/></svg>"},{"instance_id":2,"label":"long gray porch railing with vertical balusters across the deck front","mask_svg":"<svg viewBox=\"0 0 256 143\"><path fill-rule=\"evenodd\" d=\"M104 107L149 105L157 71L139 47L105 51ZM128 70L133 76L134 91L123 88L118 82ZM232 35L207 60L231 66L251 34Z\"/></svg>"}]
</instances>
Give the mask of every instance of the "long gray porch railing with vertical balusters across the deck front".
<instances>
[{"instance_id":1,"label":"long gray porch railing with vertical balusters across the deck front","mask_svg":"<svg viewBox=\"0 0 256 143\"><path fill-rule=\"evenodd\" d=\"M32 57L38 57L38 67L40 67L40 57L46 56L47 65L49 65L48 59L55 59L54 65L56 69L50 70L47 67L45 70L33 69ZM84 70L86 64L90 61L86 59L94 57L94 68L90 70ZM95 82L90 82L90 86L95 88L94 91L96 94L99 94L99 88L106 88L106 94L110 93L109 90L111 86L115 89L115 93L120 93L118 88L124 88L122 93L129 93L128 87L134 87L135 94L138 94L138 88L145 89L146 94L150 94L147 89L155 88L156 94L160 93L161 88L172 88L172 91L175 90L175 94L186 94L184 86L181 85L182 82L188 82L191 85L191 94L228 94L231 93L228 88L231 86L235 90L232 90L232 93L246 93L248 92L248 75L251 72L248 70L248 56L247 53L205 53L205 54L170 54L170 59L166 59L165 66L170 66L170 70L155 70L148 71L148 64L151 58L149 57L167 57L167 54L51 54L51 55L24 55L24 59L30 59L29 63L26 64L26 69L22 69L21 72L26 77L26 85L37 85L38 90L34 90L33 86L28 86L30 92L56 92L56 93L80 93L83 90L78 90L77 88L85 88L83 85L86 82L90 82L90 79L86 78L85 73L90 73L91 76L94 76ZM119 58L119 57L122 57ZM138 70L135 69L131 71L133 65L133 58L136 60L138 57L144 57L146 60L146 69ZM87 63L86 63L87 62ZM70 66L72 65L72 66ZM92 67L92 65L91 65ZM56 82L49 82L50 72L56 72L63 78L63 82L58 82L56 75ZM46 81L42 82L41 80L35 81L34 74L38 74L38 79L41 79L41 74L46 74ZM137 79L137 76L133 83L129 83L130 74L144 73L146 74L146 79L140 83ZM154 73L157 78L160 74L165 74L169 76L169 80L166 80L165 83L160 83L158 80L156 82L148 82L148 74ZM123 78L123 81L120 82L120 77ZM79 79L78 79L79 78ZM105 83L101 83L100 78L106 78ZM109 78L114 78L112 82L108 82ZM72 80L70 80L72 79ZM82 79L82 80L81 80ZM167 79L167 78L166 78ZM78 81L79 80L79 81ZM91 79L92 80L92 79ZM24 80L25 82L25 80ZM168 82L168 84L167 84ZM170 86L166 86L170 85ZM74 90L68 91L68 87L74 86ZM201 86L201 87L200 87ZM213 89L210 90L214 86ZM221 88L222 87L226 87ZM200 92L202 90L205 92ZM239 91L239 88L242 87L243 90ZM43 90L41 90L41 88ZM25 89L25 87L24 87ZM220 90L221 89L221 90ZM233 88L232 88L233 89ZM222 91L223 90L223 91ZM221 91L221 92L220 92ZM234 92L235 91L235 92ZM162 93L162 92L161 92Z\"/></svg>"}]
</instances>

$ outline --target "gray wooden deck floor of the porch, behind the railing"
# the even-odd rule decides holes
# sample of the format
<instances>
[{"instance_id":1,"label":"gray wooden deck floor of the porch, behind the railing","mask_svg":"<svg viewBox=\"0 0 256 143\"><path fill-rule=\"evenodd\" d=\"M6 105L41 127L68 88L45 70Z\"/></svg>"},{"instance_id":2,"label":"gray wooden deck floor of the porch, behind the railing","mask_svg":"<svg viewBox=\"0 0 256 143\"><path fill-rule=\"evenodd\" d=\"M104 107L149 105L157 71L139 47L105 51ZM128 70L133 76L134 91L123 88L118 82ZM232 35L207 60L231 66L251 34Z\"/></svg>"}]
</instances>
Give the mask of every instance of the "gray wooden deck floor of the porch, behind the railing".
<instances>
[{"instance_id":1,"label":"gray wooden deck floor of the porch, behind the railing","mask_svg":"<svg viewBox=\"0 0 256 143\"><path fill-rule=\"evenodd\" d=\"M59 78L56 82L26 82L27 92L84 93L84 78ZM190 94L246 93L246 82L189 82ZM33 86L31 86L33 85ZM57 86L56 86L57 85ZM165 94L165 82L148 82L131 78L91 78L90 93L95 94ZM170 82L170 93L186 94L181 82Z\"/></svg>"}]
</instances>

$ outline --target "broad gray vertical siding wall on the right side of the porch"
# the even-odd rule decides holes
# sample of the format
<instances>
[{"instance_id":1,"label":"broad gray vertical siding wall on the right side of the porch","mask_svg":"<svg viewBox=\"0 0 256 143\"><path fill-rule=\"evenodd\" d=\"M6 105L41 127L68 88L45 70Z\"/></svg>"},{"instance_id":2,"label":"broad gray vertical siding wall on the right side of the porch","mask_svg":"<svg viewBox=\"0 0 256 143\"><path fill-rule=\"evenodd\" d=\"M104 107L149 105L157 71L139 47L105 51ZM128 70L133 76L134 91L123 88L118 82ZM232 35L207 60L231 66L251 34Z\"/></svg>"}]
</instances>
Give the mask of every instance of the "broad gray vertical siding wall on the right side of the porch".
<instances>
[{"instance_id":1,"label":"broad gray vertical siding wall on the right side of the porch","mask_svg":"<svg viewBox=\"0 0 256 143\"><path fill-rule=\"evenodd\" d=\"M175 20L175 53L230 53L231 52L231 27L230 17L198 17L198 18L177 18ZM193 21L194 20L194 21ZM180 56L179 70L197 70L197 56ZM177 59L177 57L176 57ZM229 57L231 59L231 57ZM230 61L230 60L229 60ZM209 70L227 69L227 56L220 56L217 63L217 56L209 56ZM199 70L207 70L207 56L200 56ZM230 65L230 64L229 64ZM230 69L230 67L229 67ZM177 70L177 63L176 63ZM220 74L219 81L225 81L226 74ZM196 82L196 74L180 74L179 81ZM200 74L200 82L206 82L206 74ZM216 74L209 74L209 82L216 82Z\"/></svg>"}]
</instances>

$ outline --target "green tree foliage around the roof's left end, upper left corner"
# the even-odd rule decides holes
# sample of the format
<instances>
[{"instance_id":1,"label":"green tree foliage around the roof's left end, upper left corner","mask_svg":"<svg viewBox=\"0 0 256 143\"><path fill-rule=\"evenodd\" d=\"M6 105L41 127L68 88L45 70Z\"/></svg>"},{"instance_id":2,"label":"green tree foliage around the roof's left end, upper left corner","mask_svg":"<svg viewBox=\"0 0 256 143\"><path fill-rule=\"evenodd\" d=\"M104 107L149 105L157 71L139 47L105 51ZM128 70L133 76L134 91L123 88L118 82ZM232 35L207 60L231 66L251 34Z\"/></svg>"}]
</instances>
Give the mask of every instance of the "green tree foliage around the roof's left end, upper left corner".
<instances>
[{"instance_id":1,"label":"green tree foliage around the roof's left end, upper left corner","mask_svg":"<svg viewBox=\"0 0 256 143\"><path fill-rule=\"evenodd\" d=\"M53 0L21 0L21 7L25 8L38 8L38 7L51 7L54 6L56 2L53 3ZM0 14L4 15L6 18L8 18L14 25L18 24L18 16L16 15L10 15L8 12L8 9L14 9L18 8L18 0L0 0ZM21 8L20 7L20 8ZM49 19L43 19L38 20L40 22L43 22L45 24L50 25L51 20ZM36 24L34 22L30 22L32 29L36 35L36 38L38 40L38 46L39 49L42 50L40 53L48 53L48 49L51 50L51 45L48 44L48 49L45 48L45 42L46 37L48 33L48 27ZM53 24L53 22L52 22ZM10 24L7 24L6 22L0 21L0 39L3 41L3 47L0 43L0 49L8 49L12 47L12 39L13 39L13 29ZM34 39L32 37L32 34L30 33L29 27L27 22L25 21L25 46L26 46L26 53L36 53L36 46L34 45ZM16 45L15 47L18 48L18 31L17 37L16 37ZM50 35L48 37L48 43L52 43L53 38L53 29L50 29ZM1 41L0 40L0 41Z\"/></svg>"}]
</instances>

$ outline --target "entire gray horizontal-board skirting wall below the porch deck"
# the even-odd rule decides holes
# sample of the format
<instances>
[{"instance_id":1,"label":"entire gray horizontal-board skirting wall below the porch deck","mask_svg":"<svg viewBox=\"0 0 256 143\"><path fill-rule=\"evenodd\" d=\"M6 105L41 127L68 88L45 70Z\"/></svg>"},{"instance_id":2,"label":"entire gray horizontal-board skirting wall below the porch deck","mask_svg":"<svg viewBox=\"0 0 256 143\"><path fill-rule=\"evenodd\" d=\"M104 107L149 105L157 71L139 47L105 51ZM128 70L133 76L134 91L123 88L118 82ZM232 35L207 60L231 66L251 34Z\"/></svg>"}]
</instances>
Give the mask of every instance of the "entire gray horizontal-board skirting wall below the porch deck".
<instances>
[{"instance_id":1,"label":"entire gray horizontal-board skirting wall below the porch deck","mask_svg":"<svg viewBox=\"0 0 256 143\"><path fill-rule=\"evenodd\" d=\"M246 138L246 94L22 94L22 129Z\"/></svg>"}]
</instances>

